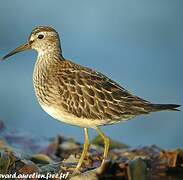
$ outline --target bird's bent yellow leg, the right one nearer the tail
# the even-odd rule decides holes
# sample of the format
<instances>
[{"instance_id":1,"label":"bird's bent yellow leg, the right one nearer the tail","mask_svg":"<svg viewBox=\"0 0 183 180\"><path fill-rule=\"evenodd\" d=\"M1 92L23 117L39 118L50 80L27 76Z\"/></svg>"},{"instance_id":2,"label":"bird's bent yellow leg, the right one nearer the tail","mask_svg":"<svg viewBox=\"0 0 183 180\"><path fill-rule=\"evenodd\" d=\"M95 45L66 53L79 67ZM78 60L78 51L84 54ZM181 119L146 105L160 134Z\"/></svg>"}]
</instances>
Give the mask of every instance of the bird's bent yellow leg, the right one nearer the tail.
<instances>
[{"instance_id":1,"label":"bird's bent yellow leg, the right one nearer the tail","mask_svg":"<svg viewBox=\"0 0 183 180\"><path fill-rule=\"evenodd\" d=\"M102 168L108 156L110 140L107 136L105 136L105 134L98 127L96 127L95 129L104 140L104 155L103 155L102 164L100 166Z\"/></svg>"}]
</instances>

